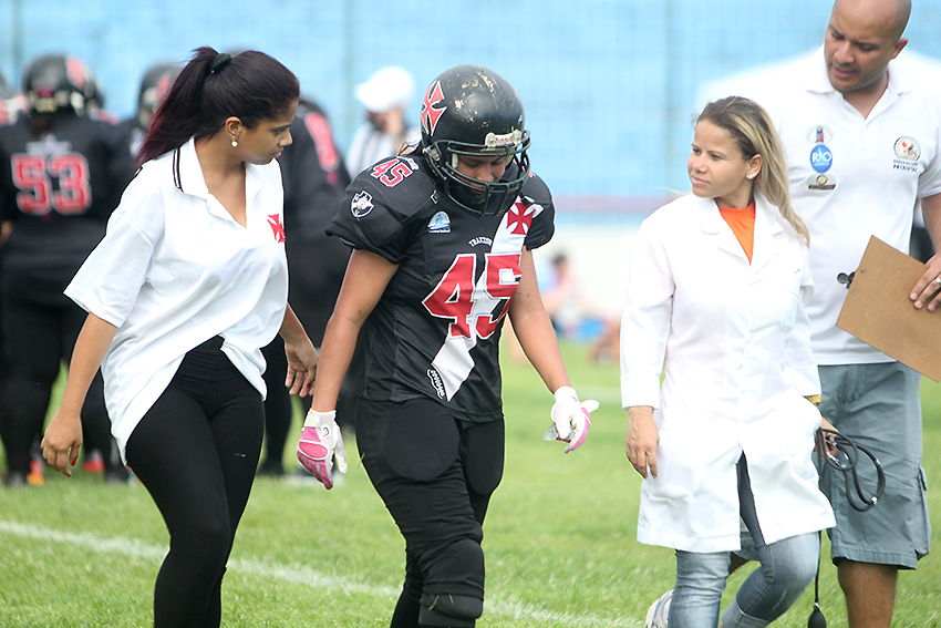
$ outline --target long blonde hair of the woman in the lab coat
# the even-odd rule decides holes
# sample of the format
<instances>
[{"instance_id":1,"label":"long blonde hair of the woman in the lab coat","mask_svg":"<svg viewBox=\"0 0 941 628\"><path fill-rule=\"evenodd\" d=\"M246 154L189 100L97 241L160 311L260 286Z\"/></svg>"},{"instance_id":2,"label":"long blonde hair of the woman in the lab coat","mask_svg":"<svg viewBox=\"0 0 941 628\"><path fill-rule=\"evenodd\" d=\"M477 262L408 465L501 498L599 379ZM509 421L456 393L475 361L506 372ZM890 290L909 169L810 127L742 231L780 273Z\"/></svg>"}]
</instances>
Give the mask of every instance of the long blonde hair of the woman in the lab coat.
<instances>
[{"instance_id":1,"label":"long blonde hair of the woman in the lab coat","mask_svg":"<svg viewBox=\"0 0 941 628\"><path fill-rule=\"evenodd\" d=\"M754 179L755 188L775 205L780 215L810 244L810 233L790 206L787 185L787 161L784 146L768 117L756 102L742 96L713 101L703 109L696 122L706 121L732 134L745 159L762 156L762 168Z\"/></svg>"}]
</instances>

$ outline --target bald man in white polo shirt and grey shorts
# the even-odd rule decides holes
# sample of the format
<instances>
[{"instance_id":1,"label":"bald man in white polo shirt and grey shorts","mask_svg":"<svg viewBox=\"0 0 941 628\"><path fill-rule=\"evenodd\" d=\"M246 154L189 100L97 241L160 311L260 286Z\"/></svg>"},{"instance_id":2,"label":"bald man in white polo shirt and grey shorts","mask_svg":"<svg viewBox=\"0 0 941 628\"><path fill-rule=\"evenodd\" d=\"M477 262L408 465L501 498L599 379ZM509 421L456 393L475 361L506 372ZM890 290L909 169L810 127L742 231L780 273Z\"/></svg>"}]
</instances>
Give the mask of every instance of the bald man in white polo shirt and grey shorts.
<instances>
[{"instance_id":1,"label":"bald man in white polo shirt and grey shorts","mask_svg":"<svg viewBox=\"0 0 941 628\"><path fill-rule=\"evenodd\" d=\"M886 471L878 506L859 513L845 496L842 474L821 470L837 515L831 557L850 628L891 625L898 569L916 568L931 538L921 377L836 327L846 276L870 236L907 251L918 199L941 249L941 78L899 54L910 10L910 0L836 0L823 49L744 90L778 128L792 202L810 229L816 290L807 312L820 364L820 411L872 450ZM935 256L912 288L914 307L939 307L939 275ZM864 466L864 485L875 486L875 471L869 477Z\"/></svg>"}]
</instances>

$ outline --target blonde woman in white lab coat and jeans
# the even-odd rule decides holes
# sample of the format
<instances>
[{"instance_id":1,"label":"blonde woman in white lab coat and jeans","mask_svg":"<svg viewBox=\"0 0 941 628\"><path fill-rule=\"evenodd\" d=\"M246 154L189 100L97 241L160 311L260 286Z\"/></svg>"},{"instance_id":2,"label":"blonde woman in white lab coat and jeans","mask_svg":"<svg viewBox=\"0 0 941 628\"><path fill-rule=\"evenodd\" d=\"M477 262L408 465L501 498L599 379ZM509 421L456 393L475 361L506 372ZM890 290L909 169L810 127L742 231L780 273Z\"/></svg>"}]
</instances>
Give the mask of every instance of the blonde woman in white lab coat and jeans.
<instances>
[{"instance_id":1,"label":"blonde woman in white lab coat and jeans","mask_svg":"<svg viewBox=\"0 0 941 628\"><path fill-rule=\"evenodd\" d=\"M670 628L715 628L741 514L762 567L722 625L765 626L814 578L816 533L834 525L811 462L821 418L805 399L820 393L809 236L754 102L705 107L687 169L693 194L640 227L621 323L638 539L676 549Z\"/></svg>"}]
</instances>

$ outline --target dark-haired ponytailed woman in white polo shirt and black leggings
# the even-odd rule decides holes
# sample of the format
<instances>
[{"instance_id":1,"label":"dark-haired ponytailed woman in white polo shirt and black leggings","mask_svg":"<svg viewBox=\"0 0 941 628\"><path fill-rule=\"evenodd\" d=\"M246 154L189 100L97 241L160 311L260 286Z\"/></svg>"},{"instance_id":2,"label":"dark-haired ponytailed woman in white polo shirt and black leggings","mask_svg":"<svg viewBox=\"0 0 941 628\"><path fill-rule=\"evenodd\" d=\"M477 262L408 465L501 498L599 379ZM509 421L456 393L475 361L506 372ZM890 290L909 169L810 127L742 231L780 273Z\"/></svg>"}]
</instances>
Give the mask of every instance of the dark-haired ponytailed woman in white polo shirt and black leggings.
<instances>
[{"instance_id":1,"label":"dark-haired ponytailed woman in white polo shirt and black leggings","mask_svg":"<svg viewBox=\"0 0 941 628\"><path fill-rule=\"evenodd\" d=\"M43 455L71 475L101 366L112 431L170 533L154 626L218 626L220 586L260 453L260 348L280 332L287 385L317 352L287 305L275 158L300 89L260 52L200 48L155 115L141 171L65 294L89 311Z\"/></svg>"}]
</instances>

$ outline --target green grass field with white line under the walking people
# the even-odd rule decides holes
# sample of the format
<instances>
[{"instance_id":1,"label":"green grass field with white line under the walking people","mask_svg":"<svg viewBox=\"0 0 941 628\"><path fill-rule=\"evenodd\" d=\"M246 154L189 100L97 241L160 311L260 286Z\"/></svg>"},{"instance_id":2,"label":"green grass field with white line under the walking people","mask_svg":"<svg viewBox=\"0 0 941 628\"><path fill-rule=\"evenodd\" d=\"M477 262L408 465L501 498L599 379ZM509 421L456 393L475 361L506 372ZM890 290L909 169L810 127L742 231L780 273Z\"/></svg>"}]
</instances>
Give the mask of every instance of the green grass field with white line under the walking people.
<instances>
[{"instance_id":1,"label":"green grass field with white line under the walking people","mask_svg":"<svg viewBox=\"0 0 941 628\"><path fill-rule=\"evenodd\" d=\"M504 364L507 464L484 525L487 599L482 628L643 626L672 587L674 559L635 541L640 476L624 457L618 367L565 347L573 385L594 398L591 433L577 452L546 443L551 397L532 369ZM924 467L941 529L941 387L926 380ZM293 457L289 443L286 459ZM355 443L333 491L260 478L236 538L223 588L227 627L386 626L404 552ZM296 463L291 460L292 467ZM0 488L0 628L144 627L166 552L163 521L139 486L105 486L81 471L46 472L43 487ZM935 548L938 538L935 535ZM737 589L747 569L731 579ZM825 560L828 625L846 626L836 569ZM776 626L804 627L813 585ZM900 578L896 626L941 626L941 560Z\"/></svg>"}]
</instances>

